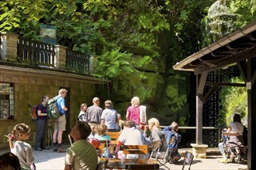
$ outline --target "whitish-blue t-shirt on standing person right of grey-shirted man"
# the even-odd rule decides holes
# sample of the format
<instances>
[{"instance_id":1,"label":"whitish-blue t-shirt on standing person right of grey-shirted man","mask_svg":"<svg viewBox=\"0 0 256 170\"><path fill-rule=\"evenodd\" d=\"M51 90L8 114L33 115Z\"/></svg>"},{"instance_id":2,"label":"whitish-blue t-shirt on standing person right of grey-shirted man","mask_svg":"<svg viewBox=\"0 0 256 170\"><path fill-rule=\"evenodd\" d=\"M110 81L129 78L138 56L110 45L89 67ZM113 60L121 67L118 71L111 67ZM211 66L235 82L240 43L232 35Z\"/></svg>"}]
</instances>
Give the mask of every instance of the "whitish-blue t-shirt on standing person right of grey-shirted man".
<instances>
[{"instance_id":1,"label":"whitish-blue t-shirt on standing person right of grey-shirted man","mask_svg":"<svg viewBox=\"0 0 256 170\"><path fill-rule=\"evenodd\" d=\"M105 124L109 129L116 129L117 112L115 109L103 110L101 119L105 120Z\"/></svg>"}]
</instances>

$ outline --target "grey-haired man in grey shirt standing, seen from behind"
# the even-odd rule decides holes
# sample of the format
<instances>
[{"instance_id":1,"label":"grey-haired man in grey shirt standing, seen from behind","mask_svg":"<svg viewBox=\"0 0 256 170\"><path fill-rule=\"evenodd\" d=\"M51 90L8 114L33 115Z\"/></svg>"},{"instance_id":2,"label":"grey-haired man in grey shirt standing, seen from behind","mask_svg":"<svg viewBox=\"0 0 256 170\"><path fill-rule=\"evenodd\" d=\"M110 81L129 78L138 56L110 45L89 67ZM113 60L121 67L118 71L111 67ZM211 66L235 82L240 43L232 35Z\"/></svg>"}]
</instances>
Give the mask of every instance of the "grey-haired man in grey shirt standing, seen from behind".
<instances>
[{"instance_id":1,"label":"grey-haired man in grey shirt standing, seen from behind","mask_svg":"<svg viewBox=\"0 0 256 170\"><path fill-rule=\"evenodd\" d=\"M92 100L93 105L88 107L87 121L88 123L100 124L102 116L102 108L99 107L99 98L94 97Z\"/></svg>"}]
</instances>

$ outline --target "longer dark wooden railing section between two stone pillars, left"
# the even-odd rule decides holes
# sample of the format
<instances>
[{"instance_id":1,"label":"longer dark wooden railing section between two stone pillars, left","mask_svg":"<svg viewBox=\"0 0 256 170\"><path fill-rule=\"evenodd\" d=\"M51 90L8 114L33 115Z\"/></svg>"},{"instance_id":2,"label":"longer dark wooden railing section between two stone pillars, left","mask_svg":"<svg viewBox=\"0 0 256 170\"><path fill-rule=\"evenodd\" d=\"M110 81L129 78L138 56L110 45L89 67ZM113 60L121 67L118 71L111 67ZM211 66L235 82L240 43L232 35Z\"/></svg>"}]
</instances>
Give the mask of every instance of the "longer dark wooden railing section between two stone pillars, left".
<instances>
[{"instance_id":1,"label":"longer dark wooden railing section between two stone pillars, left","mask_svg":"<svg viewBox=\"0 0 256 170\"><path fill-rule=\"evenodd\" d=\"M19 37L18 61L36 66L54 66L54 45Z\"/></svg>"}]
</instances>

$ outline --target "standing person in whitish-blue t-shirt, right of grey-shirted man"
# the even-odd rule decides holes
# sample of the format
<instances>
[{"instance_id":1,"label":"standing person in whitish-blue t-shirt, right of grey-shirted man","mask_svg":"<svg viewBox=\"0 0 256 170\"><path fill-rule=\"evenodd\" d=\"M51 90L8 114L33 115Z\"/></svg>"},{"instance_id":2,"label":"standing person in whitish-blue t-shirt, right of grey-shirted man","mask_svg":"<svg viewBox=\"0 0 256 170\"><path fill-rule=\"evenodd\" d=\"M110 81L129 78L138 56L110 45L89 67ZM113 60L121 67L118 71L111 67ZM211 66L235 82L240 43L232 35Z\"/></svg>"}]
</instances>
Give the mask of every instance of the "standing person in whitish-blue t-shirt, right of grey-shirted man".
<instances>
[{"instance_id":1,"label":"standing person in whitish-blue t-shirt, right of grey-shirted man","mask_svg":"<svg viewBox=\"0 0 256 170\"><path fill-rule=\"evenodd\" d=\"M118 114L113 109L111 100L105 101L105 109L102 111L102 124L106 124L108 131L116 132L116 124L119 125Z\"/></svg>"}]
</instances>

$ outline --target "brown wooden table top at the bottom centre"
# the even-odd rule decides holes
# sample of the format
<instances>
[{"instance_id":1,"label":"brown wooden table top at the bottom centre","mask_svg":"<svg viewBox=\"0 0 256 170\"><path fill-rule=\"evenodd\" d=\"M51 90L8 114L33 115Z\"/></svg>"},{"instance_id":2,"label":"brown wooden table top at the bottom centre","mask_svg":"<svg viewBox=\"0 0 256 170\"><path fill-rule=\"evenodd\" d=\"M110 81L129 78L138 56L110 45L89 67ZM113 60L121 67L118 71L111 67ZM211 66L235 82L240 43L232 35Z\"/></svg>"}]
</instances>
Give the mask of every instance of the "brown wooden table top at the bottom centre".
<instances>
[{"instance_id":1,"label":"brown wooden table top at the bottom centre","mask_svg":"<svg viewBox=\"0 0 256 170\"><path fill-rule=\"evenodd\" d=\"M99 158L99 162L106 161L107 158ZM149 160L149 159L118 159L118 158L109 158L109 162L106 168L119 168L125 169L125 165L156 165L157 169L159 168L159 164L157 160ZM143 168L141 168L142 170Z\"/></svg>"}]
</instances>

